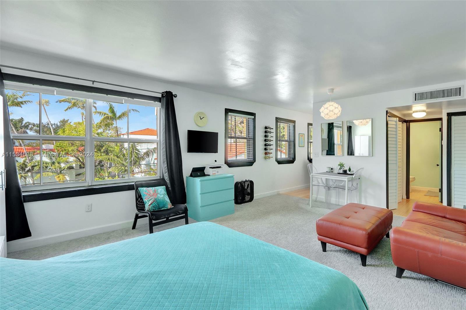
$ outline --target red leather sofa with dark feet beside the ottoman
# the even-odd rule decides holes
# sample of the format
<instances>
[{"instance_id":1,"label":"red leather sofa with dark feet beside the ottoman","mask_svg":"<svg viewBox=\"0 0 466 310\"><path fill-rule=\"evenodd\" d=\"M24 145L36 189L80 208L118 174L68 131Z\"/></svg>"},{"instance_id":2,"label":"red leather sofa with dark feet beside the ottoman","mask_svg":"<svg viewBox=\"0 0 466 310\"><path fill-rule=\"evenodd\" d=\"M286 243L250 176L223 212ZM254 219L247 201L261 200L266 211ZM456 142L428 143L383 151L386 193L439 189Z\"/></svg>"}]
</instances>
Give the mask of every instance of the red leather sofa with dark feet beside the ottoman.
<instances>
[{"instance_id":1,"label":"red leather sofa with dark feet beside the ottoman","mask_svg":"<svg viewBox=\"0 0 466 310\"><path fill-rule=\"evenodd\" d=\"M466 209L415 202L390 243L398 278L410 270L466 288Z\"/></svg>"}]
</instances>

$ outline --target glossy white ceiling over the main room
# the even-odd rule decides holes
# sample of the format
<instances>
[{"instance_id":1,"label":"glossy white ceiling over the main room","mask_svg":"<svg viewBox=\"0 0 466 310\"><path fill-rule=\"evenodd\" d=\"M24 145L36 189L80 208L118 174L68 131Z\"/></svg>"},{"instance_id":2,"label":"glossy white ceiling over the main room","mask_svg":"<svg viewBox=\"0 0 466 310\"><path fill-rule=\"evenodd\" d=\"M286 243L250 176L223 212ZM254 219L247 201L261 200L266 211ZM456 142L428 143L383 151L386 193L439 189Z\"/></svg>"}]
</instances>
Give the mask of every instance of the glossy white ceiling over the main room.
<instances>
[{"instance_id":1,"label":"glossy white ceiling over the main room","mask_svg":"<svg viewBox=\"0 0 466 310\"><path fill-rule=\"evenodd\" d=\"M0 44L295 110L465 79L465 1L1 1ZM7 65L7 63L5 63Z\"/></svg>"}]
</instances>

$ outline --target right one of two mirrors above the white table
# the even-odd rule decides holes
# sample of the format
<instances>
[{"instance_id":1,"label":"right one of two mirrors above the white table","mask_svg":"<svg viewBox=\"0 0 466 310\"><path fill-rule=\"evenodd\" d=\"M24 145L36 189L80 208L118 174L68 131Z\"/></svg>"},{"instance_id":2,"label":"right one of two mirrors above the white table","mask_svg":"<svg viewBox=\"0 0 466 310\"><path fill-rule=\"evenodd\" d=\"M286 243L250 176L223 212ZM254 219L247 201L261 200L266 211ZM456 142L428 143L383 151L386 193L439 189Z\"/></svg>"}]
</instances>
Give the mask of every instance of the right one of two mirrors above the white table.
<instances>
[{"instance_id":1,"label":"right one of two mirrors above the white table","mask_svg":"<svg viewBox=\"0 0 466 310\"><path fill-rule=\"evenodd\" d=\"M348 156L372 156L372 119L347 121Z\"/></svg>"}]
</instances>

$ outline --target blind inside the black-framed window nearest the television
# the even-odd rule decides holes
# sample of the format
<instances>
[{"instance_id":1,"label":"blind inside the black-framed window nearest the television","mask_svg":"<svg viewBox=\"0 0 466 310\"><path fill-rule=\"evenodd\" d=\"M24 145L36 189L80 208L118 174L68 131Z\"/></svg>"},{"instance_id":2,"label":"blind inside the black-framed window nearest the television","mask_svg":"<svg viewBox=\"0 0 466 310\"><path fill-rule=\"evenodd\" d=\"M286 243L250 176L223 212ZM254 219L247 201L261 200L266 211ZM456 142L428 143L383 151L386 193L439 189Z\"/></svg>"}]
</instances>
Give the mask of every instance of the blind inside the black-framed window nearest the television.
<instances>
[{"instance_id":1,"label":"blind inside the black-framed window nearest the television","mask_svg":"<svg viewBox=\"0 0 466 310\"><path fill-rule=\"evenodd\" d=\"M228 113L228 162L254 161L254 119L252 115Z\"/></svg>"}]
</instances>

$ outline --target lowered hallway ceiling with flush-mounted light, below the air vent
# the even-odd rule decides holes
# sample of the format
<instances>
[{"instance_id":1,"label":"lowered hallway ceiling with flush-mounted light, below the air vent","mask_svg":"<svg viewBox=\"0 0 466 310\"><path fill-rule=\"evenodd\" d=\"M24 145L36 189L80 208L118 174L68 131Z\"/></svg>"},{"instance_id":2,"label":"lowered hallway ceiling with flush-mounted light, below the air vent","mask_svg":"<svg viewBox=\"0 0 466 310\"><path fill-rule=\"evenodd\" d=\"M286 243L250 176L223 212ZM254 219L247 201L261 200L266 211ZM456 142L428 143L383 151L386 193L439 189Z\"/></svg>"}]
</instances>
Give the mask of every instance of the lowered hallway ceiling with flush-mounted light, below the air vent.
<instances>
[{"instance_id":1,"label":"lowered hallway ceiling with flush-mounted light, below the air vent","mask_svg":"<svg viewBox=\"0 0 466 310\"><path fill-rule=\"evenodd\" d=\"M412 111L425 110L426 115L423 118L431 118L432 116L442 115L443 110L465 107L466 99L457 99L429 103L418 103L410 106L394 107L388 109L400 117L412 119Z\"/></svg>"}]
</instances>

